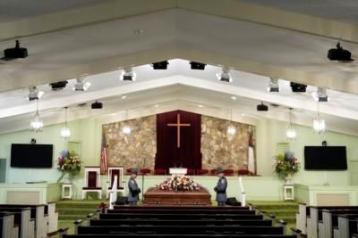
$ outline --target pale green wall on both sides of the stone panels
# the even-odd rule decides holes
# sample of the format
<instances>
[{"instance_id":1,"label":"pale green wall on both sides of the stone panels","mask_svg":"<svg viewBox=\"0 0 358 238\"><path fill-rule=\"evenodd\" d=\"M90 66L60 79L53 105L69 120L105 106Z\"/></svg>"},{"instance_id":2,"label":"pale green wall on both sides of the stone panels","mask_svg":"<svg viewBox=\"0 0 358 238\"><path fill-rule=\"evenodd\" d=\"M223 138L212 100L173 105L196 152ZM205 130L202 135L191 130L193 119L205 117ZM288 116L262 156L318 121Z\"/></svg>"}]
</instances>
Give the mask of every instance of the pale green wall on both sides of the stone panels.
<instances>
[{"instance_id":1,"label":"pale green wall on both sides of the stone panels","mask_svg":"<svg viewBox=\"0 0 358 238\"><path fill-rule=\"evenodd\" d=\"M45 122L46 123L46 122ZM98 119L81 119L71 122L72 137L70 141L81 142L81 159L84 165L99 166L101 146L101 123ZM7 183L24 183L26 181L47 180L55 182L60 173L56 170L56 158L62 150L67 148L67 141L59 136L63 125L45 127L42 133L33 133L29 130L16 133L0 135L0 158L7 159ZM286 142L286 122L263 119L257 125L257 168L262 176L272 176L273 155L276 153L277 143ZM327 132L324 135L316 135L311 127L294 125L297 131L297 139L289 143L290 150L298 157L303 168L303 146L320 145L323 140L328 145L347 146L348 166L352 161L358 160L358 137ZM54 167L52 169L28 169L10 168L10 146L12 143L30 143L31 138L36 138L38 144L54 144ZM82 174L78 176L82 177ZM78 181L77 189L81 187ZM350 185L350 174L348 171L313 172L303 169L294 176L294 182L305 185Z\"/></svg>"}]
</instances>

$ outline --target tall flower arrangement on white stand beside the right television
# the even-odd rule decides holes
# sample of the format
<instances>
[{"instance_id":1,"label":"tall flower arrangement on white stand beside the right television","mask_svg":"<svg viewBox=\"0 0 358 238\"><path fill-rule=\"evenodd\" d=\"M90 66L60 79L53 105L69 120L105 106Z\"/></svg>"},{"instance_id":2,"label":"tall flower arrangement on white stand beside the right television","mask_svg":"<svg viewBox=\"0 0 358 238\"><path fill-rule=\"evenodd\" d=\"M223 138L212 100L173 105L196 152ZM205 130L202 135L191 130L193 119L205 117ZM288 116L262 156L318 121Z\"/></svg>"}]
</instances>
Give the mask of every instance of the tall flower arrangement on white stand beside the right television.
<instances>
[{"instance_id":1,"label":"tall flower arrangement on white stand beside the right television","mask_svg":"<svg viewBox=\"0 0 358 238\"><path fill-rule=\"evenodd\" d=\"M292 184L292 176L300 170L300 163L294 157L293 152L279 153L275 157L275 171L281 179L286 179L286 184Z\"/></svg>"}]
</instances>

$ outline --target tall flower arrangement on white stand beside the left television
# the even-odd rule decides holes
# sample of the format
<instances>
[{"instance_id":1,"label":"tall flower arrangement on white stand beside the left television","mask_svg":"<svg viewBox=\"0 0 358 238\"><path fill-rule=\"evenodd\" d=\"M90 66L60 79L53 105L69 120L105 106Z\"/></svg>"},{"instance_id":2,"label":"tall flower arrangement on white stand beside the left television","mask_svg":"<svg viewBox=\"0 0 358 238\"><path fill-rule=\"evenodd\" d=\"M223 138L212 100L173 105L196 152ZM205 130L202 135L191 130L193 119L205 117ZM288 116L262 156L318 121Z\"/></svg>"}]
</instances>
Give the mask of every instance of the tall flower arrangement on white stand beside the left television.
<instances>
[{"instance_id":1,"label":"tall flower arrangement on white stand beside the left television","mask_svg":"<svg viewBox=\"0 0 358 238\"><path fill-rule=\"evenodd\" d=\"M58 181L64 178L64 183L71 183L70 175L81 171L81 159L75 152L62 151L57 159L57 169L62 172Z\"/></svg>"}]
</instances>

